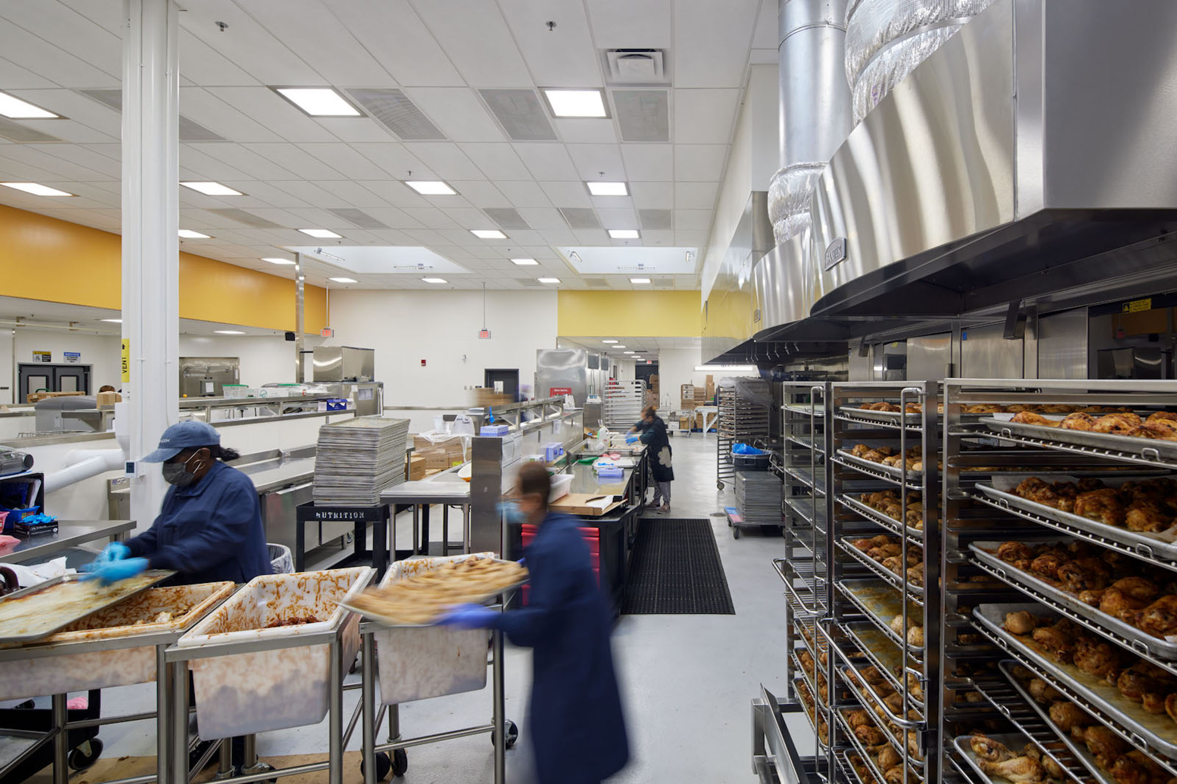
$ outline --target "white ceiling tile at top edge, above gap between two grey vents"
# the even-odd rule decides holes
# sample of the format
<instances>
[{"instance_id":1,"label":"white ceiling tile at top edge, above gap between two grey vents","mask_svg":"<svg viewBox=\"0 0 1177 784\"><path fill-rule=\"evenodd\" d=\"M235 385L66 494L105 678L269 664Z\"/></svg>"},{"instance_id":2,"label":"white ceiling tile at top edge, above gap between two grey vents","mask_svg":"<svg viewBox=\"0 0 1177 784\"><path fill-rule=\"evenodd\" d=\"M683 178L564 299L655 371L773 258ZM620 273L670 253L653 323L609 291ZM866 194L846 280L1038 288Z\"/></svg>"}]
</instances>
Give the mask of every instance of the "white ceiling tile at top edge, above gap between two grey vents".
<instances>
[{"instance_id":1,"label":"white ceiling tile at top edge, above gap between two grey vents","mask_svg":"<svg viewBox=\"0 0 1177 784\"><path fill-rule=\"evenodd\" d=\"M332 12L400 85L461 86L463 79L406 0L333 2Z\"/></svg>"}]
</instances>

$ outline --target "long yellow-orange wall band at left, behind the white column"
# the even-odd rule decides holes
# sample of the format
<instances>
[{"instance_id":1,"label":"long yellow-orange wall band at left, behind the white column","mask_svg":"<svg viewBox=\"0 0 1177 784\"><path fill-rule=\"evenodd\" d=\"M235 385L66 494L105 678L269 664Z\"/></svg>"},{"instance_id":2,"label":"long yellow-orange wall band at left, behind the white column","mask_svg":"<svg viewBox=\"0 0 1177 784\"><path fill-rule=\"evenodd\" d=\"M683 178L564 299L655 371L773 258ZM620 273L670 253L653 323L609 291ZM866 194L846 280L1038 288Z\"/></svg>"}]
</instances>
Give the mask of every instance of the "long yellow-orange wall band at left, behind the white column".
<instances>
[{"instance_id":1,"label":"long yellow-orange wall band at left, behind the white column","mask_svg":"<svg viewBox=\"0 0 1177 784\"><path fill-rule=\"evenodd\" d=\"M120 310L121 238L0 205L0 294ZM180 251L180 318L294 328L294 281ZM327 325L327 292L307 286L305 330Z\"/></svg>"}]
</instances>

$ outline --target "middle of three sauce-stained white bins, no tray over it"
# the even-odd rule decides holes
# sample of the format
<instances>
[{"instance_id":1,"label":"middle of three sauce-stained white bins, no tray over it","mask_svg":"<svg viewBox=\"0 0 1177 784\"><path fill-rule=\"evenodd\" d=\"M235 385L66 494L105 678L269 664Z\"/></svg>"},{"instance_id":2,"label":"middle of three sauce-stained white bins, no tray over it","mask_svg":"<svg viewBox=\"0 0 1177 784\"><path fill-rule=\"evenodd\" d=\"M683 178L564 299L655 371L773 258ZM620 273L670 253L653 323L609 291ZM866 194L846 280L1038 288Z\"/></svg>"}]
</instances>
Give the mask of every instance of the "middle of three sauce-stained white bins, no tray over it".
<instances>
[{"instance_id":1,"label":"middle of three sauce-stained white bins, no tray over it","mask_svg":"<svg viewBox=\"0 0 1177 784\"><path fill-rule=\"evenodd\" d=\"M334 631L346 673L359 650L359 617L339 603L363 591L374 574L368 566L357 566L254 577L177 644L257 643ZM327 715L331 645L227 653L192 659L188 666L201 738L306 726Z\"/></svg>"}]
</instances>

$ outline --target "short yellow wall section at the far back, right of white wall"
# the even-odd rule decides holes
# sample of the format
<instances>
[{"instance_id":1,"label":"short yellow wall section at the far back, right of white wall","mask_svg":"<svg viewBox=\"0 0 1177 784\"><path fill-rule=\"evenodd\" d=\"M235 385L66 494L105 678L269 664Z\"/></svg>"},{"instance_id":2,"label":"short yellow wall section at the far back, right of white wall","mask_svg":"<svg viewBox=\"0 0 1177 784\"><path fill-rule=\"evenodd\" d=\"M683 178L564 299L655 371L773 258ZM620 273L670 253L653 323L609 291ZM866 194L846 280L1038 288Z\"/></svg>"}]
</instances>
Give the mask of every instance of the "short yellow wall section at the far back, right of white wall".
<instances>
[{"instance_id":1,"label":"short yellow wall section at the far back, right of white wall","mask_svg":"<svg viewBox=\"0 0 1177 784\"><path fill-rule=\"evenodd\" d=\"M694 338L703 334L697 291L560 291L559 335L632 334Z\"/></svg>"}]
</instances>

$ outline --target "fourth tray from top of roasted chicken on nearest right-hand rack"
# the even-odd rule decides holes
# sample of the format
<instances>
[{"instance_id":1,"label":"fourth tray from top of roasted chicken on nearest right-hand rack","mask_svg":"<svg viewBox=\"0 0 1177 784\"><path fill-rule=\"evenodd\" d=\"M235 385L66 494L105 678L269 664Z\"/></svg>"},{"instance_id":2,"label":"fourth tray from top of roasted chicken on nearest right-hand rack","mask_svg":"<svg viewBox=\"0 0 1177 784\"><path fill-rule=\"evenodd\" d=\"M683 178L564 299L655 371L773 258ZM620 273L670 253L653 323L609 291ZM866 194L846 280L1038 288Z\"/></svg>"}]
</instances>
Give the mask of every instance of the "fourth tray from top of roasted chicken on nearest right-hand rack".
<instances>
[{"instance_id":1,"label":"fourth tray from top of roasted chicken on nearest right-hand rack","mask_svg":"<svg viewBox=\"0 0 1177 784\"><path fill-rule=\"evenodd\" d=\"M982 604L973 617L1039 672L1177 758L1177 676L1040 604Z\"/></svg>"}]
</instances>

